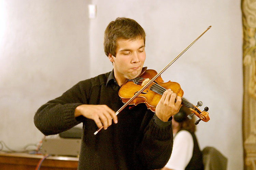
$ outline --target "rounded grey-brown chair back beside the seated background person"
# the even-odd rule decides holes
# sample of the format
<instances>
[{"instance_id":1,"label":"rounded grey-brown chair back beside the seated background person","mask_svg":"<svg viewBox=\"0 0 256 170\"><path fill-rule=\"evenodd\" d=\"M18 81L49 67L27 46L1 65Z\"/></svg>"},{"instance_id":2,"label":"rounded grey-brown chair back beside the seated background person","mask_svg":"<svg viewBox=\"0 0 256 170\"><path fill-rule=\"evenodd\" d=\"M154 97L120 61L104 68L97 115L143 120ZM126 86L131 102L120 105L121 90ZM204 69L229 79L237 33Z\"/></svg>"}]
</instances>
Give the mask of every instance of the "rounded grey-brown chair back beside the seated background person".
<instances>
[{"instance_id":1,"label":"rounded grey-brown chair back beside the seated background person","mask_svg":"<svg viewBox=\"0 0 256 170\"><path fill-rule=\"evenodd\" d=\"M214 147L202 151L204 170L226 170L228 159Z\"/></svg>"}]
</instances>

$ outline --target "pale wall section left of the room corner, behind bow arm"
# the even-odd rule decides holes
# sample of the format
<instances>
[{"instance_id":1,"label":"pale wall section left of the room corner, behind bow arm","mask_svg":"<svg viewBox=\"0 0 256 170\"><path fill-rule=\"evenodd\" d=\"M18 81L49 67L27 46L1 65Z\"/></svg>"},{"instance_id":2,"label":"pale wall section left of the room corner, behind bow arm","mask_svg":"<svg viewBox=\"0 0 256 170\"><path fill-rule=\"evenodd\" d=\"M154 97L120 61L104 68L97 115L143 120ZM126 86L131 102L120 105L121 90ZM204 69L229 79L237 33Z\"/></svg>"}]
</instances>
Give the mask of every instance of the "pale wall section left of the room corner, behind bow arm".
<instances>
[{"instance_id":1,"label":"pale wall section left of the room corner, behind bow arm","mask_svg":"<svg viewBox=\"0 0 256 170\"><path fill-rule=\"evenodd\" d=\"M43 137L35 111L89 78L88 2L0 3L0 140L23 149Z\"/></svg>"}]
</instances>

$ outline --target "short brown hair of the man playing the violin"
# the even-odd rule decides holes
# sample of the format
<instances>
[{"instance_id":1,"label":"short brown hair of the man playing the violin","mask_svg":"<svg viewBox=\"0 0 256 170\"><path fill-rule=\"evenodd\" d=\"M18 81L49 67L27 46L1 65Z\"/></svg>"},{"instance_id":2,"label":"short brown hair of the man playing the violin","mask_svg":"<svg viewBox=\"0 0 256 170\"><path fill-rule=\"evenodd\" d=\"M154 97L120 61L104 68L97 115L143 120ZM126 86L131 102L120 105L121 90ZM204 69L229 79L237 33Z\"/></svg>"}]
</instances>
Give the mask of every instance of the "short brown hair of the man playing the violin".
<instances>
[{"instance_id":1,"label":"short brown hair of the man playing the violin","mask_svg":"<svg viewBox=\"0 0 256 170\"><path fill-rule=\"evenodd\" d=\"M141 38L145 44L145 32L143 28L135 20L130 18L116 18L111 21L104 32L104 51L107 56L109 54L116 56L116 41L118 38L137 39Z\"/></svg>"}]
</instances>

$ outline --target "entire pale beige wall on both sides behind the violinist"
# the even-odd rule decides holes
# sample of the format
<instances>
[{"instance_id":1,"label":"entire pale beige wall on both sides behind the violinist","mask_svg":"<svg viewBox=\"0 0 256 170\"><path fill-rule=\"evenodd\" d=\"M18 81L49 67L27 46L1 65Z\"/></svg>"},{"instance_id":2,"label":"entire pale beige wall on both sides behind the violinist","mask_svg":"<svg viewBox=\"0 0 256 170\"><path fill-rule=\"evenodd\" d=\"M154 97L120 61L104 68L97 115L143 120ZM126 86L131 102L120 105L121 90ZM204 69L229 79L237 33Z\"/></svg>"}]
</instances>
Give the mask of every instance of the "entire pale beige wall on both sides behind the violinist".
<instances>
[{"instance_id":1,"label":"entire pale beige wall on both sides behind the violinist","mask_svg":"<svg viewBox=\"0 0 256 170\"><path fill-rule=\"evenodd\" d=\"M0 140L12 148L43 136L33 115L76 82L112 69L103 32L116 17L137 20L146 31L145 66L160 71L208 26L212 28L163 75L181 84L184 97L209 107L197 125L201 149L228 157L228 170L243 169L242 22L239 0L2 0L0 18ZM1 11L2 9L0 9Z\"/></svg>"}]
</instances>

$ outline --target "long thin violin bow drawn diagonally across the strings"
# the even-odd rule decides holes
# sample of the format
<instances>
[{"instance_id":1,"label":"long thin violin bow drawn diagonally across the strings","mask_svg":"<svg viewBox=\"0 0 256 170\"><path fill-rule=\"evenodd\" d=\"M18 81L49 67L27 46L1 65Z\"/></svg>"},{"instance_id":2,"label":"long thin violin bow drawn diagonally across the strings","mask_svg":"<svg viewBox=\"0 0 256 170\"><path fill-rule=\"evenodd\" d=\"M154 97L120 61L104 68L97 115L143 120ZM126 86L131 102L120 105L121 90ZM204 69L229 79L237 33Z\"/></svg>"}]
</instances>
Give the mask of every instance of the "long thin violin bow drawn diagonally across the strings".
<instances>
[{"instance_id":1,"label":"long thin violin bow drawn diagonally across the strings","mask_svg":"<svg viewBox=\"0 0 256 170\"><path fill-rule=\"evenodd\" d=\"M176 58L173 59L173 61L171 63L169 63L165 68L163 68L158 74L155 75L154 78L152 78L149 82L147 82L141 89L140 91L138 91L132 98L130 98L130 100L128 100L122 107L120 107L118 109L118 111L116 111L115 115L118 115L119 112L121 112L127 105L129 105L131 103L131 101L133 99L135 99L137 96L139 96L141 94L141 92L143 90L145 90L153 81L155 81L159 75L161 75L167 68L169 68L178 58L180 58L180 56L185 53L193 44L196 43L196 41L205 33L207 32L212 26L209 26L201 35L199 35L187 48L185 48L185 50L183 50L178 56L176 56ZM94 135L96 135L101 129L103 129L103 126L101 128L99 128Z\"/></svg>"}]
</instances>

